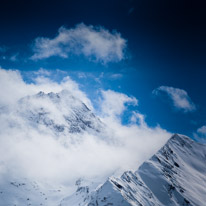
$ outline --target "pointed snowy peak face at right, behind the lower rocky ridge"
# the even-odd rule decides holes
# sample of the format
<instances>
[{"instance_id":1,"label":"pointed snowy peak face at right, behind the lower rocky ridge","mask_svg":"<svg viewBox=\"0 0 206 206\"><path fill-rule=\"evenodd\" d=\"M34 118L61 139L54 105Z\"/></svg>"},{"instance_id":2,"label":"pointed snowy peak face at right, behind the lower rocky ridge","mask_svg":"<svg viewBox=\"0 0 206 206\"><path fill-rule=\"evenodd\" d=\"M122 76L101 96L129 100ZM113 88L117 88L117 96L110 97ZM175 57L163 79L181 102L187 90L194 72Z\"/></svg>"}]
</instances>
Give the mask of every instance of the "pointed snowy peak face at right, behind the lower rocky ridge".
<instances>
[{"instance_id":1,"label":"pointed snowy peak face at right, behind the lower rocky ridge","mask_svg":"<svg viewBox=\"0 0 206 206\"><path fill-rule=\"evenodd\" d=\"M174 135L137 171L163 205L204 205L206 146Z\"/></svg>"}]
</instances>

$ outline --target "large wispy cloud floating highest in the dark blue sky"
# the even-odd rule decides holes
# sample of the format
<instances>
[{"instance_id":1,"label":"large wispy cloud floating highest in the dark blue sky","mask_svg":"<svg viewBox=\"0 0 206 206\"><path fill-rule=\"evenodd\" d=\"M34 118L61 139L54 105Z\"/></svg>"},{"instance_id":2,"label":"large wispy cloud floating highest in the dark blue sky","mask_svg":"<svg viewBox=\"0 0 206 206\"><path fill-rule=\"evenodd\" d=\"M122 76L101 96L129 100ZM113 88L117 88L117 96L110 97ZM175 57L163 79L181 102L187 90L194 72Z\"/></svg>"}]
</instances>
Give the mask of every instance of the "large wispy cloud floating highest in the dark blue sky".
<instances>
[{"instance_id":1,"label":"large wispy cloud floating highest in the dark blue sky","mask_svg":"<svg viewBox=\"0 0 206 206\"><path fill-rule=\"evenodd\" d=\"M124 58L126 40L117 32L102 27L78 24L75 28L61 27L55 38L38 37L33 45L33 60L52 56L69 58L70 55L84 55L90 60L102 63L118 62Z\"/></svg>"}]
</instances>

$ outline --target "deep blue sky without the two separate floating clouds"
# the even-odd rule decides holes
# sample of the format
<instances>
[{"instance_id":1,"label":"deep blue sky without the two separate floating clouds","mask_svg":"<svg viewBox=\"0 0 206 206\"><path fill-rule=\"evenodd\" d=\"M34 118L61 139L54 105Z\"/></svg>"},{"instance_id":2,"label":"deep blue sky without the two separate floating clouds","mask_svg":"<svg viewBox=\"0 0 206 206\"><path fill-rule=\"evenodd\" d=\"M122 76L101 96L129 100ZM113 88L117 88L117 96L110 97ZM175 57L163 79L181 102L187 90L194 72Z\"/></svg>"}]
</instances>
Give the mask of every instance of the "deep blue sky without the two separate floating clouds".
<instances>
[{"instance_id":1,"label":"deep blue sky without the two separate floating clouds","mask_svg":"<svg viewBox=\"0 0 206 206\"><path fill-rule=\"evenodd\" d=\"M2 0L0 6L0 65L24 72L66 70L85 90L113 89L139 100L138 110L149 125L192 136L206 124L206 6L204 1L153 0ZM125 60L102 65L86 58L31 61L31 44L39 36L54 38L61 26L76 24L116 30L127 40ZM17 55L15 61L9 57ZM83 82L76 72L95 77ZM111 79L111 74L121 74ZM154 97L159 86L187 91L196 111L181 112Z\"/></svg>"}]
</instances>

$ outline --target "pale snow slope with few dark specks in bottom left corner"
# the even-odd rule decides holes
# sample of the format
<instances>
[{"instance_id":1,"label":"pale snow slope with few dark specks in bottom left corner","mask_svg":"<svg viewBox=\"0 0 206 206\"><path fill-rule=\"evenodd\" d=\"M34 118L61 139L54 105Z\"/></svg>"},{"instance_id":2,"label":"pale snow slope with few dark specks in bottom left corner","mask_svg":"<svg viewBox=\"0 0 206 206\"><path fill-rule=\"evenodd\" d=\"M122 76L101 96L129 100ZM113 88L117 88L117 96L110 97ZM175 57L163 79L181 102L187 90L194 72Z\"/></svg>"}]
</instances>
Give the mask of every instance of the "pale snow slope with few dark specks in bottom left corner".
<instances>
[{"instance_id":1,"label":"pale snow slope with few dark specks in bottom left corner","mask_svg":"<svg viewBox=\"0 0 206 206\"><path fill-rule=\"evenodd\" d=\"M5 178L0 184L0 206L57 206L68 192L63 186Z\"/></svg>"}]
</instances>

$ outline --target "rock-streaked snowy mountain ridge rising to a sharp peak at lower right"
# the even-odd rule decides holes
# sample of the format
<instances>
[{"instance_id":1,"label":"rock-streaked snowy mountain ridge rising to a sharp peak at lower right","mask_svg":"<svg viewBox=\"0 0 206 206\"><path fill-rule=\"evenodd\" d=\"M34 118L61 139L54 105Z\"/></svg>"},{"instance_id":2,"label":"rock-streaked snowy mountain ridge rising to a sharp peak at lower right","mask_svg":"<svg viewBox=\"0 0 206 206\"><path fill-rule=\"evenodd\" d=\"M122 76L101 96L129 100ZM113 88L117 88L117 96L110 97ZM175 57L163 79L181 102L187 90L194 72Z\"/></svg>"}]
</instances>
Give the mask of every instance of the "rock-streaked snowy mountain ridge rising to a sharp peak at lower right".
<instances>
[{"instance_id":1,"label":"rock-streaked snowy mountain ridge rising to a sharp peak at lower right","mask_svg":"<svg viewBox=\"0 0 206 206\"><path fill-rule=\"evenodd\" d=\"M94 191L78 188L61 206L203 206L206 145L175 134L137 171L110 177Z\"/></svg>"}]
</instances>

